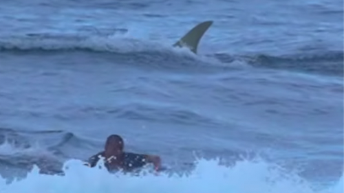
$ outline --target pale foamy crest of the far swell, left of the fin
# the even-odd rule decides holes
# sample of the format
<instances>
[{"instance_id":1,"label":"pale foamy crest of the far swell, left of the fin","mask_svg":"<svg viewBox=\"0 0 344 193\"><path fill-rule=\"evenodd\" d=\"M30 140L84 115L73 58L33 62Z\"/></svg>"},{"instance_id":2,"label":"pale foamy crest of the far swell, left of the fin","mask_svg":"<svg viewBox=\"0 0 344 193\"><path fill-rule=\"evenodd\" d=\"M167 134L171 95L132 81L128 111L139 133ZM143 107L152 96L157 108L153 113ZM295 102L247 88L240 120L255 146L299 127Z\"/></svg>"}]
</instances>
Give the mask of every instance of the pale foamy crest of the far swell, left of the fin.
<instances>
[{"instance_id":1,"label":"pale foamy crest of the far swell, left of the fin","mask_svg":"<svg viewBox=\"0 0 344 193\"><path fill-rule=\"evenodd\" d=\"M139 38L132 38L128 34L113 34L109 36L75 36L66 34L12 36L0 41L0 47L4 49L90 49L96 52L161 52L175 50L169 43L160 41L143 41Z\"/></svg>"}]
</instances>

